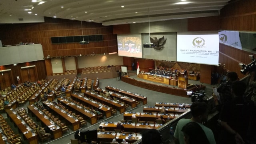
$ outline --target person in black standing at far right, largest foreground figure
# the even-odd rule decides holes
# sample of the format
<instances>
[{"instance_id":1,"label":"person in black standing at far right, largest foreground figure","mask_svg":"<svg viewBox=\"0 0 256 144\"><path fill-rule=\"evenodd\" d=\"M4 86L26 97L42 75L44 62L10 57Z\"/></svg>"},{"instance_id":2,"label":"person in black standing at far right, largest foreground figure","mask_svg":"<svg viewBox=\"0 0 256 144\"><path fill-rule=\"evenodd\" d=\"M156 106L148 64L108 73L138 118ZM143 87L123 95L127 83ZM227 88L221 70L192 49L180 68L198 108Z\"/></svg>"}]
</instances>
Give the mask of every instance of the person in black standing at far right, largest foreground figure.
<instances>
[{"instance_id":1,"label":"person in black standing at far right, largest foreground figure","mask_svg":"<svg viewBox=\"0 0 256 144\"><path fill-rule=\"evenodd\" d=\"M254 104L244 98L246 84L240 80L232 83L231 94L233 99L223 104L220 111L219 144L244 144L249 140L247 135Z\"/></svg>"}]
</instances>

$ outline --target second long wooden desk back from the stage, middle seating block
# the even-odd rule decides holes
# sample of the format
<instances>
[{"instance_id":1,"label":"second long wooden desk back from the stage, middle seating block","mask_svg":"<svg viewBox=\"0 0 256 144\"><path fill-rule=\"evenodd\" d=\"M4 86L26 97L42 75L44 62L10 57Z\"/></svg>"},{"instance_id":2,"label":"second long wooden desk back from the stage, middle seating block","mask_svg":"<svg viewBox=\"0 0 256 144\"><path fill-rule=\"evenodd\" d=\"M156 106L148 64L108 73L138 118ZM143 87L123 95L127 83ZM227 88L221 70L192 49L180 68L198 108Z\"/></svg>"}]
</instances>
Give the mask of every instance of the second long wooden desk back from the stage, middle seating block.
<instances>
[{"instance_id":1,"label":"second long wooden desk back from the stage, middle seating block","mask_svg":"<svg viewBox=\"0 0 256 144\"><path fill-rule=\"evenodd\" d=\"M100 92L102 92L102 89L101 88L96 88L96 89L94 89L94 91L98 92L98 94L99 94ZM103 90L104 94L106 94L106 92L107 92L106 90ZM124 102L125 104L129 104L130 106L132 106L132 108L136 107L136 101L135 100L131 100L129 98L125 98L125 97L120 96L118 94L114 94L113 92L110 92L110 97L112 97L112 98L119 98L121 102ZM120 113L123 113L123 112L120 112Z\"/></svg>"}]
</instances>

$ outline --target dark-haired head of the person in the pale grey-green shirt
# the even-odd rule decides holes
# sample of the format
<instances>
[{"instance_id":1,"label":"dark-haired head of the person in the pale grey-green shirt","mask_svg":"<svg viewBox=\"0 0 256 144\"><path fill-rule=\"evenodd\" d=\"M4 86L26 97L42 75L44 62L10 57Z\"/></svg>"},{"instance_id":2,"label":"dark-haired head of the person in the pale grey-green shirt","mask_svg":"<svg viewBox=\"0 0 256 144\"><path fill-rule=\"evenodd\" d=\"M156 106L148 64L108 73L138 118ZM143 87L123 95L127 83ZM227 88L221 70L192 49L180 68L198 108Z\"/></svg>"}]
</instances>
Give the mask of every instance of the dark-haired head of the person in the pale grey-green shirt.
<instances>
[{"instance_id":1,"label":"dark-haired head of the person in the pale grey-green shirt","mask_svg":"<svg viewBox=\"0 0 256 144\"><path fill-rule=\"evenodd\" d=\"M205 102L193 102L190 110L193 118L201 122L208 114L208 105Z\"/></svg>"}]
</instances>

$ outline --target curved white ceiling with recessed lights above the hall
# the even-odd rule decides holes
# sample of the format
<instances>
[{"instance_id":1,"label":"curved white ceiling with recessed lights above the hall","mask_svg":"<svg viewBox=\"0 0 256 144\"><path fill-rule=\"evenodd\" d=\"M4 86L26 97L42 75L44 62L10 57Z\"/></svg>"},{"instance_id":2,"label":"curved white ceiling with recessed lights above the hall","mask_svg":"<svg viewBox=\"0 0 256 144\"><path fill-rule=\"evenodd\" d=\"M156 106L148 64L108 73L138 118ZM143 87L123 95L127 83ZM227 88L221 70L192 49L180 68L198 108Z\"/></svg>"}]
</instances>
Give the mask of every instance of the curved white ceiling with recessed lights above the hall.
<instances>
[{"instance_id":1,"label":"curved white ceiling with recessed lights above the hall","mask_svg":"<svg viewBox=\"0 0 256 144\"><path fill-rule=\"evenodd\" d=\"M42 22L46 17L130 24L219 15L230 0L2 0L0 23ZM124 6L124 7L122 7ZM26 10L25 10L26 9ZM28 12L31 12L28 14ZM28 20L28 21L26 21Z\"/></svg>"}]
</instances>

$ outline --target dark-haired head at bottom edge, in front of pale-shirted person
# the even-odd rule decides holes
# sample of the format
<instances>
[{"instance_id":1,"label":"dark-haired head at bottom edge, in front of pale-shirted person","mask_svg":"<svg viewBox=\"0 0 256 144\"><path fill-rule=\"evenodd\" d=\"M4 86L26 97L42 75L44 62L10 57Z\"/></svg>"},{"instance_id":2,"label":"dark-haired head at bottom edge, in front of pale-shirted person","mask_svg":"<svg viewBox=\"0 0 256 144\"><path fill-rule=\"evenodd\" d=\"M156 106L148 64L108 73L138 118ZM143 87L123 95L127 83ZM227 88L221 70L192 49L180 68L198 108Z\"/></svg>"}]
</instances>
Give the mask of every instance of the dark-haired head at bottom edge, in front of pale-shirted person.
<instances>
[{"instance_id":1,"label":"dark-haired head at bottom edge, in front of pale-shirted person","mask_svg":"<svg viewBox=\"0 0 256 144\"><path fill-rule=\"evenodd\" d=\"M183 126L185 144L210 144L204 130L196 122L189 122Z\"/></svg>"}]
</instances>

